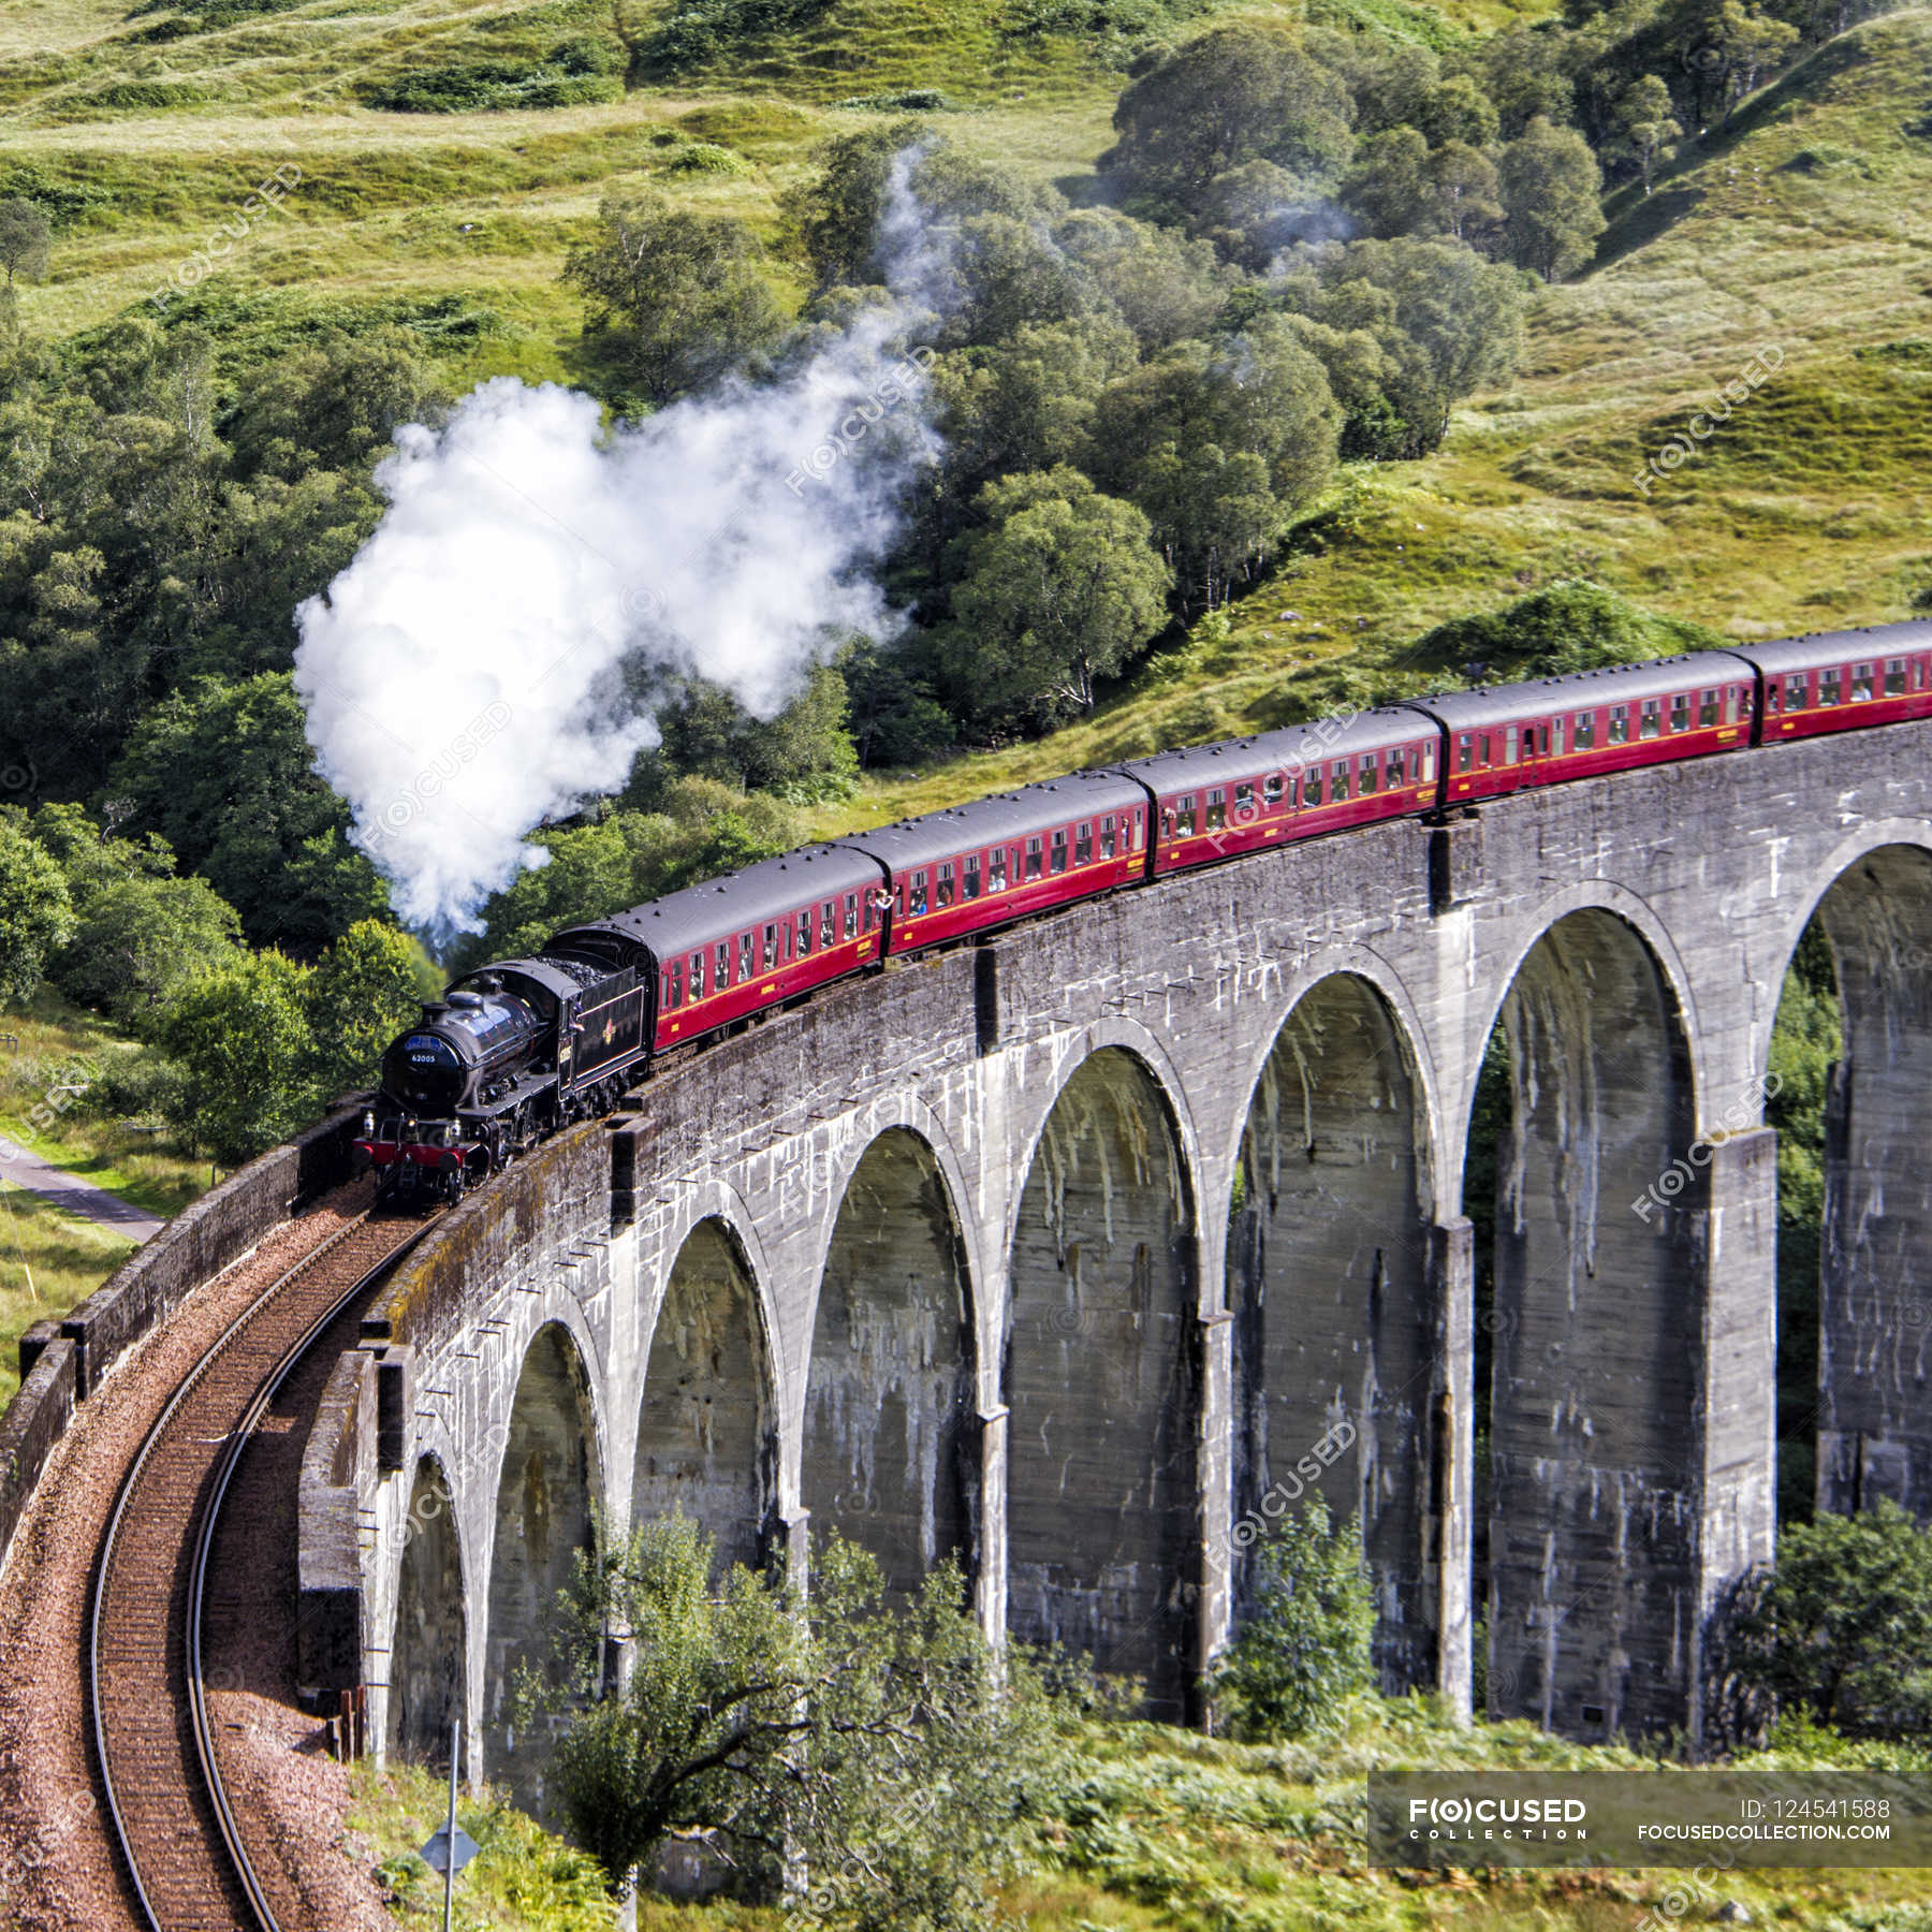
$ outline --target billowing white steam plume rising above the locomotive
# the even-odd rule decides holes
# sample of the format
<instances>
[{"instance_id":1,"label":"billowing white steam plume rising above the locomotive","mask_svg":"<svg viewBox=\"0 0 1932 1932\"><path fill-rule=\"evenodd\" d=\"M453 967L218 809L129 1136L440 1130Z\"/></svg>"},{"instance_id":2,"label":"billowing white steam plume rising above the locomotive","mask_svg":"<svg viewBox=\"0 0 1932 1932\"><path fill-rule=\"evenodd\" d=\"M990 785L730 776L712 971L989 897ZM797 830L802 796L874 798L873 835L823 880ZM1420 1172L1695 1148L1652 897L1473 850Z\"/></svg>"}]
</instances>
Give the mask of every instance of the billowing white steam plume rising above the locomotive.
<instances>
[{"instance_id":1,"label":"billowing white steam plume rising above the locomotive","mask_svg":"<svg viewBox=\"0 0 1932 1932\"><path fill-rule=\"evenodd\" d=\"M889 236L914 232L902 209ZM893 299L790 375L614 435L591 398L498 377L396 437L381 526L298 611L296 690L406 923L475 929L545 862L524 833L624 782L655 742L626 665L769 715L838 632L889 626L869 572L933 450L929 352L893 344L931 282L904 243Z\"/></svg>"}]
</instances>

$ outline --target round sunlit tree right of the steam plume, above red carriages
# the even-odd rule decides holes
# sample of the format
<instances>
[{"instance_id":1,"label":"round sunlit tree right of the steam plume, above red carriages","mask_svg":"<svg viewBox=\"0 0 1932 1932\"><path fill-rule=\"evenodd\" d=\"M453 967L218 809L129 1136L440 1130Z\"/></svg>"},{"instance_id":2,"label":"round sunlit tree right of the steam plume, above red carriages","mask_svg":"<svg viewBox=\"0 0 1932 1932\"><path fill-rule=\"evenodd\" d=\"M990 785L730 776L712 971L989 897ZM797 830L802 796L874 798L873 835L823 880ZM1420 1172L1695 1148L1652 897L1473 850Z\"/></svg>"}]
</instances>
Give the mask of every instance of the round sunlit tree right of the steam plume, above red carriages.
<instances>
[{"instance_id":1,"label":"round sunlit tree right of the steam plume, above red carriages","mask_svg":"<svg viewBox=\"0 0 1932 1932\"><path fill-rule=\"evenodd\" d=\"M1094 709L1094 680L1167 622L1169 570L1148 518L1065 464L1003 477L960 545L952 661L989 717Z\"/></svg>"}]
</instances>

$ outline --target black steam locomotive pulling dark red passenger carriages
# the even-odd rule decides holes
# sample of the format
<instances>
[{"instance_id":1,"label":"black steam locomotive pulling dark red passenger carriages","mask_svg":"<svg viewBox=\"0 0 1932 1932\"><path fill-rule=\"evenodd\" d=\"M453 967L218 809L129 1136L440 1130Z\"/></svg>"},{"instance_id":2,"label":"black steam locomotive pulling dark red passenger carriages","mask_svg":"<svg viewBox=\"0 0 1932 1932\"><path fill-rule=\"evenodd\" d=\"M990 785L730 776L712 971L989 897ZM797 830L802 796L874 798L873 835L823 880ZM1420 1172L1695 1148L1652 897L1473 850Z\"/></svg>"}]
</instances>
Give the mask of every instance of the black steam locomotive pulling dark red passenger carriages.
<instances>
[{"instance_id":1,"label":"black steam locomotive pulling dark red passenger carriages","mask_svg":"<svg viewBox=\"0 0 1932 1932\"><path fill-rule=\"evenodd\" d=\"M384 1196L458 1198L653 1063L833 980L1389 817L1932 717L1932 624L1420 697L1030 784L769 858L458 980L383 1057Z\"/></svg>"}]
</instances>

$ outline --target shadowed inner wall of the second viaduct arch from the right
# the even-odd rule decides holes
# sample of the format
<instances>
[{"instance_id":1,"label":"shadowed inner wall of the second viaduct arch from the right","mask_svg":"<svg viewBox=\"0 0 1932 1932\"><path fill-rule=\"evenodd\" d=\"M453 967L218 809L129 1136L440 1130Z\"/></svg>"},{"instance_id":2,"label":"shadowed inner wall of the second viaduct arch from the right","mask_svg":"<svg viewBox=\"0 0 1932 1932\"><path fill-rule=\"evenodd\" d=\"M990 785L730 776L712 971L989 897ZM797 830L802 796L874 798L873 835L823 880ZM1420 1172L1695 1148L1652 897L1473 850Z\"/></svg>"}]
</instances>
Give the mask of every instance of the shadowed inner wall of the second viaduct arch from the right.
<instances>
[{"instance_id":1,"label":"shadowed inner wall of the second viaduct arch from the right","mask_svg":"<svg viewBox=\"0 0 1932 1932\"><path fill-rule=\"evenodd\" d=\"M1586 904L1519 954L1497 1024L1490 1710L1665 1731L1702 1617L1706 1281L1689 1217L1633 1202L1694 1142L1687 1016L1646 935Z\"/></svg>"}]
</instances>

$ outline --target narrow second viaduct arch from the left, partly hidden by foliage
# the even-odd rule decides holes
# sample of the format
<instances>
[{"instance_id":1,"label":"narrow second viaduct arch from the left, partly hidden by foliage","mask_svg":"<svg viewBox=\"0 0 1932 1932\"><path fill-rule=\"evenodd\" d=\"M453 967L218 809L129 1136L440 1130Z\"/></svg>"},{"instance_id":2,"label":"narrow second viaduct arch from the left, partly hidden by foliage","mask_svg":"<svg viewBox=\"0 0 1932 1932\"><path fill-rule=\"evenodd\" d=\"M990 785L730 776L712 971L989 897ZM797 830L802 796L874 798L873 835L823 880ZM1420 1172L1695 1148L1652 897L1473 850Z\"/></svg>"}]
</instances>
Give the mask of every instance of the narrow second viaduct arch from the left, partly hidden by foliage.
<instances>
[{"instance_id":1,"label":"narrow second viaduct arch from the left, partly hidden by foliage","mask_svg":"<svg viewBox=\"0 0 1932 1932\"><path fill-rule=\"evenodd\" d=\"M483 1718L491 1758L508 1766L520 1791L541 1791L545 1750L543 1739L516 1748L516 1671L549 1658L556 1594L591 1548L603 1495L585 1358L562 1321L545 1321L524 1350L504 1430L489 1567Z\"/></svg>"}]
</instances>

